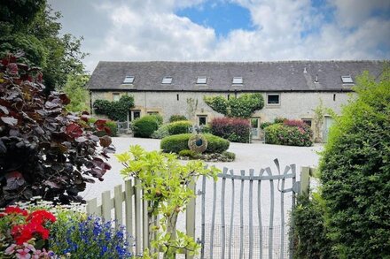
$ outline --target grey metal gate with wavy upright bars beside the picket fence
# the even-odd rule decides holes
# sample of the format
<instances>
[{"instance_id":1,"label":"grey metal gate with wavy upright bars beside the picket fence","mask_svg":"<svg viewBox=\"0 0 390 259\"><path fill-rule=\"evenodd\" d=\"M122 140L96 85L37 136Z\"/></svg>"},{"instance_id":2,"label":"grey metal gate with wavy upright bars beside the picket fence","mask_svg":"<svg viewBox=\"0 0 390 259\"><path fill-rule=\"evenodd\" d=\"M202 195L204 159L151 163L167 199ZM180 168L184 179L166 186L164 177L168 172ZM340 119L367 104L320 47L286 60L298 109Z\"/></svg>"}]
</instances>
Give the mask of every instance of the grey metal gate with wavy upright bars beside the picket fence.
<instances>
[{"instance_id":1,"label":"grey metal gate with wavy upright bars beside the picket fence","mask_svg":"<svg viewBox=\"0 0 390 259\"><path fill-rule=\"evenodd\" d=\"M274 163L277 174L270 167L239 174L223 168L218 181L202 179L200 258L292 258L293 218L286 210L299 191L296 166L281 174Z\"/></svg>"}]
</instances>

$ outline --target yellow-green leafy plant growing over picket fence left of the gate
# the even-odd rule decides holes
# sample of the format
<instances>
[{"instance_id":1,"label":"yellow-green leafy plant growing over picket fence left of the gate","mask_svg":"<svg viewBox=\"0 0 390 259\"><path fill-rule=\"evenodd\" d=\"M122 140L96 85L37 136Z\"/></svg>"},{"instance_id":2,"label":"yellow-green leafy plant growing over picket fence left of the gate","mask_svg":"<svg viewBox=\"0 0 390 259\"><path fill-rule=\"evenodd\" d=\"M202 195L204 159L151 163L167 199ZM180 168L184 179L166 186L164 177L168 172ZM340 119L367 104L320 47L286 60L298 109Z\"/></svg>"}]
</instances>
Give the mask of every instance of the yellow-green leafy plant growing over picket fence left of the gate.
<instances>
[{"instance_id":1,"label":"yellow-green leafy plant growing over picket fence left of the gate","mask_svg":"<svg viewBox=\"0 0 390 259\"><path fill-rule=\"evenodd\" d=\"M149 204L148 224L152 230L149 240L152 247L161 249L164 258L175 258L175 254L180 251L188 251L190 255L198 254L199 244L185 233L175 230L177 217L186 209L188 202L196 197L189 185L196 183L202 175L216 179L219 170L206 168L202 161L182 164L173 154L146 152L139 146L132 146L128 152L116 157L125 166L121 175L138 179L144 190L144 199ZM158 215L159 223L152 220L152 216ZM159 255L156 253L152 257L159 258ZM151 258L148 252L144 253L144 258Z\"/></svg>"}]
</instances>

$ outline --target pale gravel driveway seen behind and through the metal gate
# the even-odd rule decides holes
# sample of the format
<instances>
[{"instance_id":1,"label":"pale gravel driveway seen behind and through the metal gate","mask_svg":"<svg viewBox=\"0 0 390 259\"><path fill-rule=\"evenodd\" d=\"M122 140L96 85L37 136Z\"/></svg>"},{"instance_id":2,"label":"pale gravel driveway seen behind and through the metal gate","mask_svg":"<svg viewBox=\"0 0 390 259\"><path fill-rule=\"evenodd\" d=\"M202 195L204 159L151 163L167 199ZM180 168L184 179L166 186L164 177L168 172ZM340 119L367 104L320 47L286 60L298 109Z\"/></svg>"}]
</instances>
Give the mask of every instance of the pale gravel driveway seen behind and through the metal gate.
<instances>
[{"instance_id":1,"label":"pale gravel driveway seen behind and through the metal gate","mask_svg":"<svg viewBox=\"0 0 390 259\"><path fill-rule=\"evenodd\" d=\"M129 149L129 145L136 145L139 144L144 149L147 150L153 150L153 149L160 149L160 140L153 140L153 139L138 139L138 138L113 138L113 144L116 147L117 153L121 153L123 151L126 151ZM221 169L223 167L227 167L229 169L232 169L235 171L235 174L239 174L240 170L246 170L246 173L248 173L249 169L254 169L255 174L259 173L261 168L265 168L270 166L272 173L277 174L276 166L273 162L275 158L279 160L279 164L281 167L281 171L283 173L285 166L289 164L296 164L297 167L297 174L299 178L299 171L301 166L317 166L319 156L317 155L317 152L322 150L322 146L315 146L315 147L288 147L288 146L277 146L277 145L268 145L268 144L262 144L262 143L252 143L252 144L242 144L242 143L230 143L230 149L229 151L234 152L236 154L236 160L234 162L227 162L227 163L208 163L209 165L214 165L217 168ZM87 189L82 193L82 196L86 200L90 200L92 198L98 197L98 201L100 200L100 194L103 193L106 190L111 190L113 195L113 187L121 184L123 182L120 171L122 169L122 165L118 163L115 159L115 157L112 157L109 160L109 163L113 166L113 169L111 171L108 171L105 174L105 180L102 182L97 182L96 184L91 184L87 186ZM206 190L206 225L208 226L206 228L206 236L208 236L210 227L209 224L212 220L212 206L213 206L213 180L207 180L207 190ZM222 181L219 180L217 182L217 196L216 196L216 213L215 213L215 239L214 240L214 246L215 243L218 242L218 239L221 238L221 223L222 220L222 213L221 213L221 183ZM280 206L280 192L277 191L277 181L275 184L275 208L274 208L274 242L277 243L277 240L280 240L280 232L277 230L280 229L281 225L281 206ZM240 192L240 183L238 180L235 181L235 204L234 204L234 222L233 222L233 229L235 232L235 235L238 235L239 232L239 222L240 222L240 209L239 209L239 192ZM285 188L292 187L291 180L287 181L285 184ZM199 190L201 188L201 179L199 179L199 182L197 184L197 189ZM244 187L244 209L243 209L243 215L244 215L244 225L246 226L245 229L247 231L248 229L248 196L249 196L249 187L248 184L245 184ZM232 187L231 187L231 181L226 181L226 194L225 194L225 222L226 224L230 223L230 201L232 199ZM196 235L197 237L200 237L200 211L201 211L201 200L197 199L197 218L196 218ZM253 226L258 226L259 222L257 219L257 185L253 185ZM261 224L263 226L261 232L263 233L263 236L268 235L268 228L269 225L269 212L270 212L270 188L269 188L269 181L263 181L261 183ZM288 217L289 217L289 209L291 209L291 193L285 194L285 223L288 223ZM227 226L229 227L229 226ZM184 217L179 217L178 219L178 228L184 229L185 228L185 220ZM245 231L245 237L247 239L248 234ZM254 227L253 232L256 237L259 235L259 228ZM285 231L285 235L287 234L287 230ZM237 239L237 237L233 237L233 239ZM286 237L287 239L287 237ZM287 240L285 240L287 242ZM280 242L279 242L280 243ZM247 240L245 241L245 246L247 248ZM208 249L208 248L207 248ZM266 247L263 247L262 249L266 249ZM276 249L276 248L274 248ZM265 251L265 250L264 250ZM277 250L275 250L277 252ZM265 253L265 252L264 252ZM267 254L265 254L267 255ZM276 254L277 255L277 254Z\"/></svg>"}]
</instances>

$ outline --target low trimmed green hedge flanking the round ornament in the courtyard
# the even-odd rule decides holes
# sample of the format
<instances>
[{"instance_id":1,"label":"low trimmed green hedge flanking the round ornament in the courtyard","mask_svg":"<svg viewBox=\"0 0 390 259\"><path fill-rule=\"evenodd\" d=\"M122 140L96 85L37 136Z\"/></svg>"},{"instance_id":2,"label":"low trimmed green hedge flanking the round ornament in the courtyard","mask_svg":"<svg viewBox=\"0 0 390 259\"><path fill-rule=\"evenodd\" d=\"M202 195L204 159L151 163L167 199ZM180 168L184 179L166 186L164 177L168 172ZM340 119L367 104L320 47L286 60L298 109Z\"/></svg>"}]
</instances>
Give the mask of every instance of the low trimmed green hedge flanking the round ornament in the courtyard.
<instances>
[{"instance_id":1,"label":"low trimmed green hedge flanking the round ornament in the courtyard","mask_svg":"<svg viewBox=\"0 0 390 259\"><path fill-rule=\"evenodd\" d=\"M193 134L178 134L165 137L161 140L160 149L164 152L179 154L180 151L188 149L188 140ZM203 134L208 142L206 153L222 153L229 149L230 142L212 134Z\"/></svg>"}]
</instances>

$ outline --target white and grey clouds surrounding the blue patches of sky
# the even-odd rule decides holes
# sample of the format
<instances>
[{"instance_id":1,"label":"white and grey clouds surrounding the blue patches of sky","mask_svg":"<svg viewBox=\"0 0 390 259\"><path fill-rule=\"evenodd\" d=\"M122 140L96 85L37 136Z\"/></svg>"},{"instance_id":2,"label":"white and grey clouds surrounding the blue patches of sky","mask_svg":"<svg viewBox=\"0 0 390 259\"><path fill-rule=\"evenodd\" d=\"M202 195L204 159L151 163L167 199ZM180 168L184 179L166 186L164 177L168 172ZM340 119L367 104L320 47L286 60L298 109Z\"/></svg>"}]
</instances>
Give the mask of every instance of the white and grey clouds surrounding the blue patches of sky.
<instances>
[{"instance_id":1,"label":"white and grey clouds surrounding the blue patches of sky","mask_svg":"<svg viewBox=\"0 0 390 259\"><path fill-rule=\"evenodd\" d=\"M98 46L87 50L91 54L86 60L88 69L93 70L99 60L390 57L390 20L372 16L380 8L390 8L387 1L329 0L335 19L327 21L309 0L235 0L250 11L255 29L234 30L225 37L217 37L213 28L175 15L180 8L201 8L199 4L203 1L136 0L96 4L100 13L108 17L110 29ZM87 42L88 35L84 38ZM378 46L385 46L386 52Z\"/></svg>"}]
</instances>

